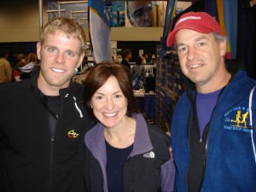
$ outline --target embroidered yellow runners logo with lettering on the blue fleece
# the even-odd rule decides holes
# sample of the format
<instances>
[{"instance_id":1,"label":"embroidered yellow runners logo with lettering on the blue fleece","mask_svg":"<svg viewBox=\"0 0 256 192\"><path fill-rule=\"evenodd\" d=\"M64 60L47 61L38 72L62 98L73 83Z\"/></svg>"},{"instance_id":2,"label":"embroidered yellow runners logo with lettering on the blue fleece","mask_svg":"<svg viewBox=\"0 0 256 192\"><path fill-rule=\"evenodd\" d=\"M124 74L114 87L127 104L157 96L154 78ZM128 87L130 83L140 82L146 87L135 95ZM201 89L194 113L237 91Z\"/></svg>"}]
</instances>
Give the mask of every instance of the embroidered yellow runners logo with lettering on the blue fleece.
<instances>
[{"instance_id":1,"label":"embroidered yellow runners logo with lettering on the blue fleece","mask_svg":"<svg viewBox=\"0 0 256 192\"><path fill-rule=\"evenodd\" d=\"M236 107L230 109L230 111L224 113L224 129L234 130L234 131L245 131L250 132L248 130L249 124L249 112L248 108L244 107Z\"/></svg>"}]
</instances>

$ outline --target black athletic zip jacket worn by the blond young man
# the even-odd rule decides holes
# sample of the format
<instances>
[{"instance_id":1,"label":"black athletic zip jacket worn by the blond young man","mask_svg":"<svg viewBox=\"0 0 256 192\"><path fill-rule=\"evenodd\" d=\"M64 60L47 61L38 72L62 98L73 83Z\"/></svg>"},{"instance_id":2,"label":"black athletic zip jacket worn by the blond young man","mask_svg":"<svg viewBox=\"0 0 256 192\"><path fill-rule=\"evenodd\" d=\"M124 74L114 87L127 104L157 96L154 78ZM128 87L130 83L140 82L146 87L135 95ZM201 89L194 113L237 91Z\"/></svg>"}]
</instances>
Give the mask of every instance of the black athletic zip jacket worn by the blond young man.
<instances>
[{"instance_id":1,"label":"black athletic zip jacket worn by the blond young man","mask_svg":"<svg viewBox=\"0 0 256 192\"><path fill-rule=\"evenodd\" d=\"M83 87L72 82L60 90L56 118L38 90L38 71L0 86L0 191L84 192L84 134L91 125Z\"/></svg>"}]
</instances>

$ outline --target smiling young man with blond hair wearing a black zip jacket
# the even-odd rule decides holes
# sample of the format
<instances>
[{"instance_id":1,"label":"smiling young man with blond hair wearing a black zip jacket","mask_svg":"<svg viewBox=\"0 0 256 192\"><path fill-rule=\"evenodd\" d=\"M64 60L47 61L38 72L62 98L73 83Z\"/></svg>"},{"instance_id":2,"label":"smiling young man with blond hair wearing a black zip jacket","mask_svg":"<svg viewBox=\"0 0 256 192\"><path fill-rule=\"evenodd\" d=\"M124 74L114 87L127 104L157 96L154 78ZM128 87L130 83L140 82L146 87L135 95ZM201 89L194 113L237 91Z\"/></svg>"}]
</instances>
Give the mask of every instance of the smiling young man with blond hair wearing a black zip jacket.
<instances>
[{"instance_id":1,"label":"smiling young man with blond hair wearing a black zip jacket","mask_svg":"<svg viewBox=\"0 0 256 192\"><path fill-rule=\"evenodd\" d=\"M71 19L44 26L31 79L0 88L0 191L84 191L83 87L71 79L85 35Z\"/></svg>"}]
</instances>

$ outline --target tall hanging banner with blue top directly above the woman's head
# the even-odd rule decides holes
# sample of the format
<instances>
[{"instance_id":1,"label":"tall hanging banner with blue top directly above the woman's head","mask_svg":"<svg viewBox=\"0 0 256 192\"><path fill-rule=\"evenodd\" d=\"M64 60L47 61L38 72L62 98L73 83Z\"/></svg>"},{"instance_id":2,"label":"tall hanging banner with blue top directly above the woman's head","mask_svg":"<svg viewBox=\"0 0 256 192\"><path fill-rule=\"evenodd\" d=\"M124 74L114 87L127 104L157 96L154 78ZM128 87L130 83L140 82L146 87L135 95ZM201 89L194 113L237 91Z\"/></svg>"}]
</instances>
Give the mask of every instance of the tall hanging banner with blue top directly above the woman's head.
<instances>
[{"instance_id":1,"label":"tall hanging banner with blue top directly above the woman's head","mask_svg":"<svg viewBox=\"0 0 256 192\"><path fill-rule=\"evenodd\" d=\"M94 61L112 61L110 16L105 1L90 0L88 5L90 45Z\"/></svg>"}]
</instances>

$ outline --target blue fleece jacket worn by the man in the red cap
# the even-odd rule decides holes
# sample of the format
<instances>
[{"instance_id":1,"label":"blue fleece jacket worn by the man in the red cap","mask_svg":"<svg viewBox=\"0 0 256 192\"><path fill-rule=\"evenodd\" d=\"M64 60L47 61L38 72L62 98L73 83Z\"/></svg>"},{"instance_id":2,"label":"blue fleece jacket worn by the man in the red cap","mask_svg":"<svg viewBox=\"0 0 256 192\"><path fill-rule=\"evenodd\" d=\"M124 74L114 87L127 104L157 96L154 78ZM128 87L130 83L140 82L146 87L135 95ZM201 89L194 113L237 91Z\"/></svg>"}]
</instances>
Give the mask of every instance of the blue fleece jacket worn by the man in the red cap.
<instances>
[{"instance_id":1,"label":"blue fleece jacket worn by the man in the red cap","mask_svg":"<svg viewBox=\"0 0 256 192\"><path fill-rule=\"evenodd\" d=\"M205 174L201 192L256 191L256 91L253 96L253 125L249 123L249 95L253 79L240 71L226 86L212 113L207 140ZM195 91L192 92L195 96ZM187 93L177 102L172 120L172 152L177 168L175 189L187 191L189 167L188 117L192 103ZM192 114L193 115L193 114Z\"/></svg>"}]
</instances>

